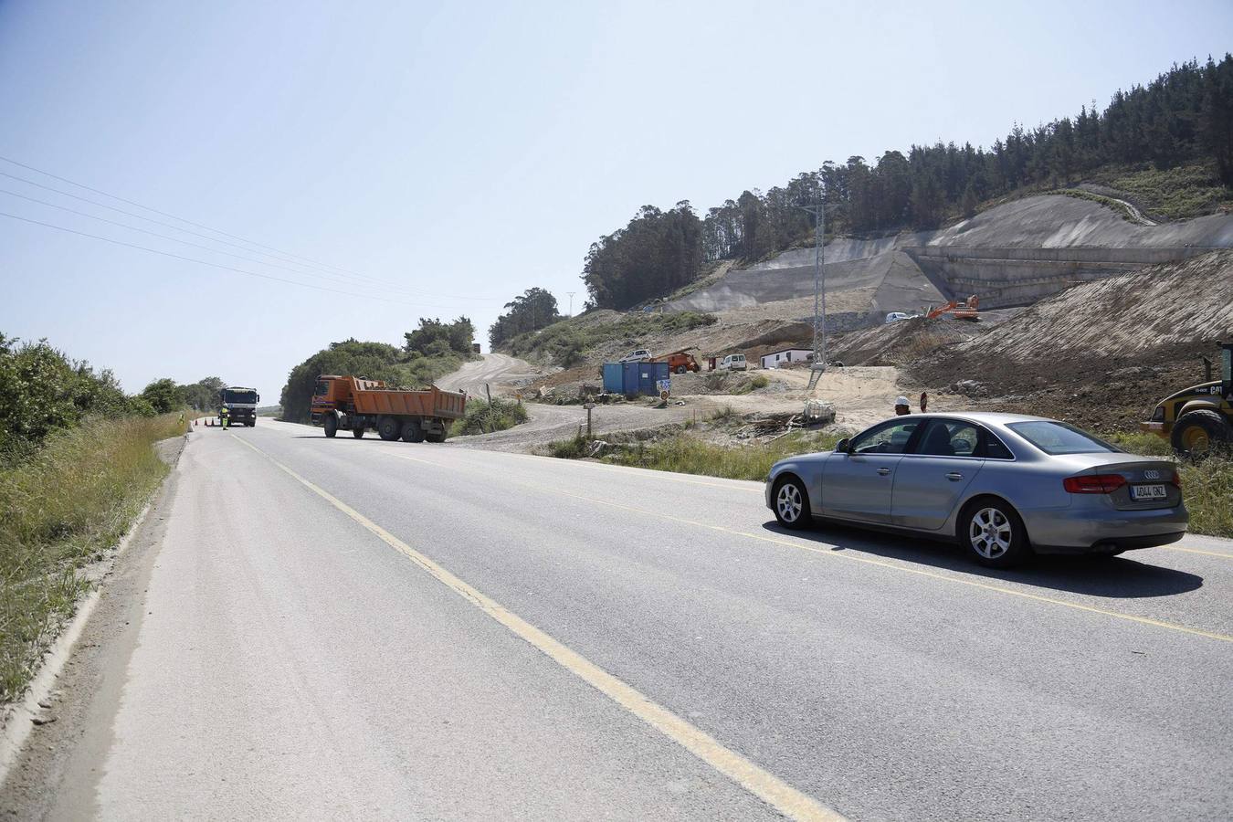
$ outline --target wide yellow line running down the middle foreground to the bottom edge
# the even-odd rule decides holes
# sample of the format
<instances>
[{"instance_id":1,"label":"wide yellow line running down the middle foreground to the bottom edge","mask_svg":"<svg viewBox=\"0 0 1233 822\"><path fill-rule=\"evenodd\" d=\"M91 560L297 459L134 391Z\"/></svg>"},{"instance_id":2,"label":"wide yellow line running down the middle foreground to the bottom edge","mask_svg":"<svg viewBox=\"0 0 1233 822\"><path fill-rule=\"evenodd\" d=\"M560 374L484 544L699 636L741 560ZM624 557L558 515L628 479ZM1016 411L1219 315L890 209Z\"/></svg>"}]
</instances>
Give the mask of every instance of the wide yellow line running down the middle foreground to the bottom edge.
<instances>
[{"instance_id":1,"label":"wide yellow line running down the middle foreground to the bottom edge","mask_svg":"<svg viewBox=\"0 0 1233 822\"><path fill-rule=\"evenodd\" d=\"M557 640L554 640L551 636L525 621L513 611L509 611L492 598L462 582L449 571L396 537L393 534L390 534L343 500L332 495L329 492L319 488L308 479L305 479L261 449L244 439L237 439L239 442L243 442L281 468L296 482L305 486L330 505L375 534L382 542L404 555L438 582L454 590L456 594L470 601L501 625L506 626L515 636L535 646L535 648L550 657L559 665L586 682L588 685L624 707L642 722L650 725L663 736L689 751L689 753L694 754L704 763L761 799L777 812L793 820L810 820L819 822L837 822L843 820L840 813L797 790L774 774L763 770L735 751L725 748L709 733L694 727L689 722L686 722L668 709L645 696L641 691L625 684L616 677L613 677L599 665L588 661L586 657L581 656L576 651L572 651ZM416 460L417 462L438 465L406 455L397 456L404 460Z\"/></svg>"}]
</instances>

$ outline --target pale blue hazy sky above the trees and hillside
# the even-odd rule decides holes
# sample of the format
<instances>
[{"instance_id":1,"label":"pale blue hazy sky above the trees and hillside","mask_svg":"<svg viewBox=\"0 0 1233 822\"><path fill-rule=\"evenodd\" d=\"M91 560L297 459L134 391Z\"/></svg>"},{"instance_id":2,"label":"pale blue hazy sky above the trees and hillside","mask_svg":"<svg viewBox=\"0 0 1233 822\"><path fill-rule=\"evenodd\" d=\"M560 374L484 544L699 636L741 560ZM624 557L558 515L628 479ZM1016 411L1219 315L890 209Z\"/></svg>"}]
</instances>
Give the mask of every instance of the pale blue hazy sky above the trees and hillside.
<instances>
[{"instance_id":1,"label":"pale blue hazy sky above the trees and hillside","mask_svg":"<svg viewBox=\"0 0 1233 822\"><path fill-rule=\"evenodd\" d=\"M1228 0L0 0L0 333L272 404L332 341L577 312L644 205L988 145L1229 48Z\"/></svg>"}]
</instances>

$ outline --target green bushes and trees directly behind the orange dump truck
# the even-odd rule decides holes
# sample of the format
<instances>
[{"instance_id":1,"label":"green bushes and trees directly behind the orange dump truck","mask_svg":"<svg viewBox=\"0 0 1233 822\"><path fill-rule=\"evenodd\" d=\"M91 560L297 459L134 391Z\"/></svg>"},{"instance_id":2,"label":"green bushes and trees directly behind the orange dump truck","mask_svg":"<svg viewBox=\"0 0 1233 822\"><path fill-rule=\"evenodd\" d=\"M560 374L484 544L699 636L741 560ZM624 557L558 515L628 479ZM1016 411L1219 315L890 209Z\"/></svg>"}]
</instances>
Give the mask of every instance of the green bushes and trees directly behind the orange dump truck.
<instances>
[{"instance_id":1,"label":"green bushes and trees directly behind the orange dump truck","mask_svg":"<svg viewBox=\"0 0 1233 822\"><path fill-rule=\"evenodd\" d=\"M313 354L287 376L279 402L282 419L289 423L309 421L312 392L317 377L323 373L382 380L396 388L418 388L480 356L471 348L475 325L466 317L459 317L453 323L420 319L419 328L403 336L402 348L349 339L330 343Z\"/></svg>"}]
</instances>

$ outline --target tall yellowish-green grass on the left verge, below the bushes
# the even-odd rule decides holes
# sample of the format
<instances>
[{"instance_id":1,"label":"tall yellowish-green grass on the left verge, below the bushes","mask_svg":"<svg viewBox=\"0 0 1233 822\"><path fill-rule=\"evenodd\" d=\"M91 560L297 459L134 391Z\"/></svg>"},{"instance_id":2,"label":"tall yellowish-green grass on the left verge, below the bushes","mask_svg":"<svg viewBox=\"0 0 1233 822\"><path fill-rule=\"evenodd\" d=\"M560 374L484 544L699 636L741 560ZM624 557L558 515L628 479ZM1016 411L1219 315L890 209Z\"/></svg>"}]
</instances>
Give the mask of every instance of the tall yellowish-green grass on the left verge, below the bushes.
<instances>
[{"instance_id":1,"label":"tall yellowish-green grass on the left verge, below the bushes","mask_svg":"<svg viewBox=\"0 0 1233 822\"><path fill-rule=\"evenodd\" d=\"M16 699L90 583L78 571L128 530L166 474L153 444L179 413L91 419L0 471L0 701Z\"/></svg>"}]
</instances>

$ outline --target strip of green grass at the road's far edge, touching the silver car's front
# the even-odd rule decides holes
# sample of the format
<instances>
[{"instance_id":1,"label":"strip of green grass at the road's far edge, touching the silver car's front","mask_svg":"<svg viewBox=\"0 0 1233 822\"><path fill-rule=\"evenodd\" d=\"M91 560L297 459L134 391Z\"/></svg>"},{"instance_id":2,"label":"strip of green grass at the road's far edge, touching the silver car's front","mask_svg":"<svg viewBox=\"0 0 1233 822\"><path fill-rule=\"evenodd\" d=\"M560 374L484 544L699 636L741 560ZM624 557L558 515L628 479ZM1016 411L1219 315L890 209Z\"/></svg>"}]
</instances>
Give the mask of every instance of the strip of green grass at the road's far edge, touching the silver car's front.
<instances>
[{"instance_id":1,"label":"strip of green grass at the road's far edge, touching the silver car's front","mask_svg":"<svg viewBox=\"0 0 1233 822\"><path fill-rule=\"evenodd\" d=\"M650 442L614 444L604 450L600 462L761 482L779 460L825 451L834 447L840 437L840 434L793 431L773 442L725 446L683 435ZM588 456L591 447L586 437L572 437L554 442L549 454L578 458Z\"/></svg>"}]
</instances>

